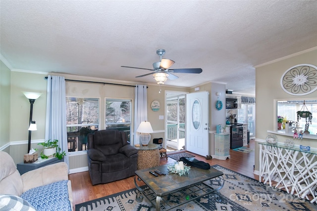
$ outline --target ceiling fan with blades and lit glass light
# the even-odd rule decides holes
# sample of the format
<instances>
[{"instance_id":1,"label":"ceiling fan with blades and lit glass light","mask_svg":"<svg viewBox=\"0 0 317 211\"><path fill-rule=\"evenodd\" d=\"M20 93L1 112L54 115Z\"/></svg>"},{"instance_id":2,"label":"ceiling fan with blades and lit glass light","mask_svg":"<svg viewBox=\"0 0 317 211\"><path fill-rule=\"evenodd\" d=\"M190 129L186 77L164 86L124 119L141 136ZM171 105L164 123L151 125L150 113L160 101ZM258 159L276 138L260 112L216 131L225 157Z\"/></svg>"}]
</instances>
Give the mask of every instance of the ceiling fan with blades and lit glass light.
<instances>
[{"instance_id":1,"label":"ceiling fan with blades and lit glass light","mask_svg":"<svg viewBox=\"0 0 317 211\"><path fill-rule=\"evenodd\" d=\"M158 84L164 84L164 82L166 82L167 79L174 80L174 79L178 78L178 76L175 76L171 73L196 73L196 74L198 74L198 73L203 72L203 70L201 68L169 69L175 62L173 60L170 60L170 59L162 59L162 55L164 55L164 53L165 53L164 49L157 50L157 54L159 55L159 62L153 63L154 69L128 67L128 66L121 66L121 67L153 71L152 73L137 76L136 78L149 76L149 75L153 74L153 77L157 81Z\"/></svg>"}]
</instances>

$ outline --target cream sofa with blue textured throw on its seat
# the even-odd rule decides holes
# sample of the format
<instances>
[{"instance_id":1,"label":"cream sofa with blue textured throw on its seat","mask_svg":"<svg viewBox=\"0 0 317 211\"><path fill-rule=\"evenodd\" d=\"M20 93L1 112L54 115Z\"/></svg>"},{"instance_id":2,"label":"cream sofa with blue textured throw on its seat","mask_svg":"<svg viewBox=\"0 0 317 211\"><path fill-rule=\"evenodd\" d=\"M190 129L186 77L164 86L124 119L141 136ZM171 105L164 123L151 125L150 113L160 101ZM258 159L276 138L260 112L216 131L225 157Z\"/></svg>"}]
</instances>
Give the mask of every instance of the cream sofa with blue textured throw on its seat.
<instances>
[{"instance_id":1,"label":"cream sofa with blue textured throw on its seat","mask_svg":"<svg viewBox=\"0 0 317 211\"><path fill-rule=\"evenodd\" d=\"M73 208L71 183L64 162L20 175L11 156L0 151L0 194L0 210L28 204L29 210L38 211L72 211Z\"/></svg>"}]
</instances>

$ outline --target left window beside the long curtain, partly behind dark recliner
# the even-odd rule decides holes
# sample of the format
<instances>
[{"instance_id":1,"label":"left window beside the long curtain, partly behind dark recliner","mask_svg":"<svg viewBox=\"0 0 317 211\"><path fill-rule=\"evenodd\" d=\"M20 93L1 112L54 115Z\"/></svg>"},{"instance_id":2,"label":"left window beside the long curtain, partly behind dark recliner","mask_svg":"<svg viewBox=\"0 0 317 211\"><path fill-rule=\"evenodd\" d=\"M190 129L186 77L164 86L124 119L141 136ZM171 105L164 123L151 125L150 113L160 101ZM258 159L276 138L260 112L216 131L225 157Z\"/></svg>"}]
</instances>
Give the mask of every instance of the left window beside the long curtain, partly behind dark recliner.
<instances>
[{"instance_id":1,"label":"left window beside the long curtain, partly behind dark recliner","mask_svg":"<svg viewBox=\"0 0 317 211\"><path fill-rule=\"evenodd\" d=\"M87 135L99 127L99 98L66 97L68 152L87 150Z\"/></svg>"}]
</instances>

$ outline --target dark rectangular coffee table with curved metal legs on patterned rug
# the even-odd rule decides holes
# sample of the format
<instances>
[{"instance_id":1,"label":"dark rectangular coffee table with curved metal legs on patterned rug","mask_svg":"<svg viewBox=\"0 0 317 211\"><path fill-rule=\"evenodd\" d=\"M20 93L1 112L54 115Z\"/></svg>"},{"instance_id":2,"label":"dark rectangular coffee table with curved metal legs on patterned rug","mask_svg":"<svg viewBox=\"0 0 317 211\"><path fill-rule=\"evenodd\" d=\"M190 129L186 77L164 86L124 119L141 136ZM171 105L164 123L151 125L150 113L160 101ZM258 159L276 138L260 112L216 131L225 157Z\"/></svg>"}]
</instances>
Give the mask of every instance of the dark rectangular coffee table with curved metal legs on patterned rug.
<instances>
[{"instance_id":1,"label":"dark rectangular coffee table with curved metal legs on patterned rug","mask_svg":"<svg viewBox=\"0 0 317 211\"><path fill-rule=\"evenodd\" d=\"M189 174L179 176L168 172L168 165L171 164L135 171L134 183L139 190L136 197L138 202L142 202L145 196L157 211L160 207L167 211L213 192L217 201L221 201L216 192L224 184L221 171L212 167L208 170L191 167ZM149 172L155 170L166 175L156 177ZM137 180L143 181L146 186L141 188Z\"/></svg>"}]
</instances>

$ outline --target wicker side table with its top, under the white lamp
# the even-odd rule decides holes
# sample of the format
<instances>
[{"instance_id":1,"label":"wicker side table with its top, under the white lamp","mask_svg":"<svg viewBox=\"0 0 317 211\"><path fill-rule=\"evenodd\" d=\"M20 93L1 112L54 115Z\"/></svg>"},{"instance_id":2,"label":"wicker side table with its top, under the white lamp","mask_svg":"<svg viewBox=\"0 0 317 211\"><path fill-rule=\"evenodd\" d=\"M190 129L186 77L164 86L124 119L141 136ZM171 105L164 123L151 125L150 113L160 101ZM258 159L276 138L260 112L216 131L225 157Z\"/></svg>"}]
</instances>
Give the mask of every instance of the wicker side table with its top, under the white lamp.
<instances>
[{"instance_id":1,"label":"wicker side table with its top, under the white lamp","mask_svg":"<svg viewBox=\"0 0 317 211\"><path fill-rule=\"evenodd\" d=\"M136 147L138 152L138 169L148 169L159 166L160 155L159 145L149 144L148 146Z\"/></svg>"}]
</instances>

